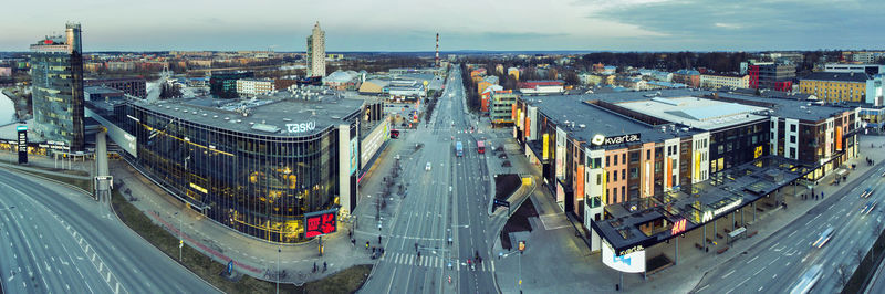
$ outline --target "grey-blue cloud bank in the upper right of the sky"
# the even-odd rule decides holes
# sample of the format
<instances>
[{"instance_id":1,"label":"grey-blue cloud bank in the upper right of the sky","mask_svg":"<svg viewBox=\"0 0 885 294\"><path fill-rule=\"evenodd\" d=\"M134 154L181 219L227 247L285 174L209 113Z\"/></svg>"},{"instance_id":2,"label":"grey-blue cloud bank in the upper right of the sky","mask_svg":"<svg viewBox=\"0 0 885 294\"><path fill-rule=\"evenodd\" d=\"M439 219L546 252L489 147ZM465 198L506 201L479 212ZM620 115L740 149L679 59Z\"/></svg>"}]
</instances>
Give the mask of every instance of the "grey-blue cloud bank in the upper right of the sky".
<instances>
[{"instance_id":1,"label":"grey-blue cloud bank in the upper right of the sky","mask_svg":"<svg viewBox=\"0 0 885 294\"><path fill-rule=\"evenodd\" d=\"M818 49L879 45L885 1L676 0L595 11L688 48Z\"/></svg>"}]
</instances>

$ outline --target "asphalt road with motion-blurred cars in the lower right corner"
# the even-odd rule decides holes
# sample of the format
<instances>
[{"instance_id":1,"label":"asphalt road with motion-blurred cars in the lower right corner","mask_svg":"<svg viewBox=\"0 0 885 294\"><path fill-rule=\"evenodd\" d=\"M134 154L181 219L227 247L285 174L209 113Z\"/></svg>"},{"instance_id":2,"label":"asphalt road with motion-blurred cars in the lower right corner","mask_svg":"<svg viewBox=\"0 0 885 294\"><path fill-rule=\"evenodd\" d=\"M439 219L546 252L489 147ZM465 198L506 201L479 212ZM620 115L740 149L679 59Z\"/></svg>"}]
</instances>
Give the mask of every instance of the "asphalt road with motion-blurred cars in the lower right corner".
<instances>
[{"instance_id":1,"label":"asphalt road with motion-blurred cars in the lower right corner","mask_svg":"<svg viewBox=\"0 0 885 294\"><path fill-rule=\"evenodd\" d=\"M858 183L845 186L834 196L827 196L818 207L754 245L746 254L705 275L693 292L787 293L815 264L823 265L823 274L811 293L842 291L840 265L845 264L847 281L857 266L857 252L861 252L861 256L866 254L875 241L876 228L885 221L885 207L882 206L885 200L885 185L879 177L882 171L883 167L873 169ZM875 192L870 198L861 198L860 195L870 186L876 187ZM868 214L861 213L861 209L870 200L878 204ZM829 227L833 227L835 232L830 241L822 248L812 246Z\"/></svg>"}]
</instances>

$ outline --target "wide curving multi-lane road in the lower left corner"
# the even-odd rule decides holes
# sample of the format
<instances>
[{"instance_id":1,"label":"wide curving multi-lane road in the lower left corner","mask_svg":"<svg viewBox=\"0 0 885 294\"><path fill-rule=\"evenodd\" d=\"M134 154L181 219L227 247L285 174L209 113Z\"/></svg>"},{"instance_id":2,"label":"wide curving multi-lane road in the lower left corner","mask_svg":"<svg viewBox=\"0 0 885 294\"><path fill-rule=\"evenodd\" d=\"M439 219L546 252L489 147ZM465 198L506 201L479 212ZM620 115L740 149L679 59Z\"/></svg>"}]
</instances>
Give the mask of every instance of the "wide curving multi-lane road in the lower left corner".
<instances>
[{"instance_id":1,"label":"wide curving multi-lane road in the lower left corner","mask_svg":"<svg viewBox=\"0 0 885 294\"><path fill-rule=\"evenodd\" d=\"M106 206L4 169L0 191L6 293L218 293Z\"/></svg>"}]
</instances>

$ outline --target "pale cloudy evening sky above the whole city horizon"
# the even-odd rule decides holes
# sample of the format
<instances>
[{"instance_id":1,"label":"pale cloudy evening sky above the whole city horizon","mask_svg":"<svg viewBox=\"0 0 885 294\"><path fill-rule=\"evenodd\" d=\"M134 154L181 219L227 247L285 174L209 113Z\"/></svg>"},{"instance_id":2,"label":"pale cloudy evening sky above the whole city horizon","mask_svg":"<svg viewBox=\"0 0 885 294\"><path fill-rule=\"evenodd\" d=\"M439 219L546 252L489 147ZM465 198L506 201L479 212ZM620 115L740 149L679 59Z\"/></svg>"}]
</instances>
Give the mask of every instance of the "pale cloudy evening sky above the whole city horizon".
<instances>
[{"instance_id":1,"label":"pale cloudy evening sky above the whole city horizon","mask_svg":"<svg viewBox=\"0 0 885 294\"><path fill-rule=\"evenodd\" d=\"M7 1L0 51L66 21L84 51L761 51L885 49L883 0Z\"/></svg>"}]
</instances>

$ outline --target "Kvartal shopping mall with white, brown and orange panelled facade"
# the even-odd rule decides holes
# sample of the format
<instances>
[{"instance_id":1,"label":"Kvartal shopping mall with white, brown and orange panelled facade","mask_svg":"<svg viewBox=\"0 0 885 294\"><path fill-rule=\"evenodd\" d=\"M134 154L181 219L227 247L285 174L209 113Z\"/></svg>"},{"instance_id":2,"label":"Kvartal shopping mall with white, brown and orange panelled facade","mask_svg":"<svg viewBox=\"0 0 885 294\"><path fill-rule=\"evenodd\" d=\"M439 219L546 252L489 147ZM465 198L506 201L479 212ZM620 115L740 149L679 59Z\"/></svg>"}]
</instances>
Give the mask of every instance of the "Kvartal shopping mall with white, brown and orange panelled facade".
<instances>
[{"instance_id":1,"label":"Kvartal shopping mall with white, brown and orange panelled facade","mask_svg":"<svg viewBox=\"0 0 885 294\"><path fill-rule=\"evenodd\" d=\"M591 249L624 255L668 240L683 220L699 228L856 157L857 112L671 90L523 96L512 116L513 136L563 211L583 220Z\"/></svg>"}]
</instances>

